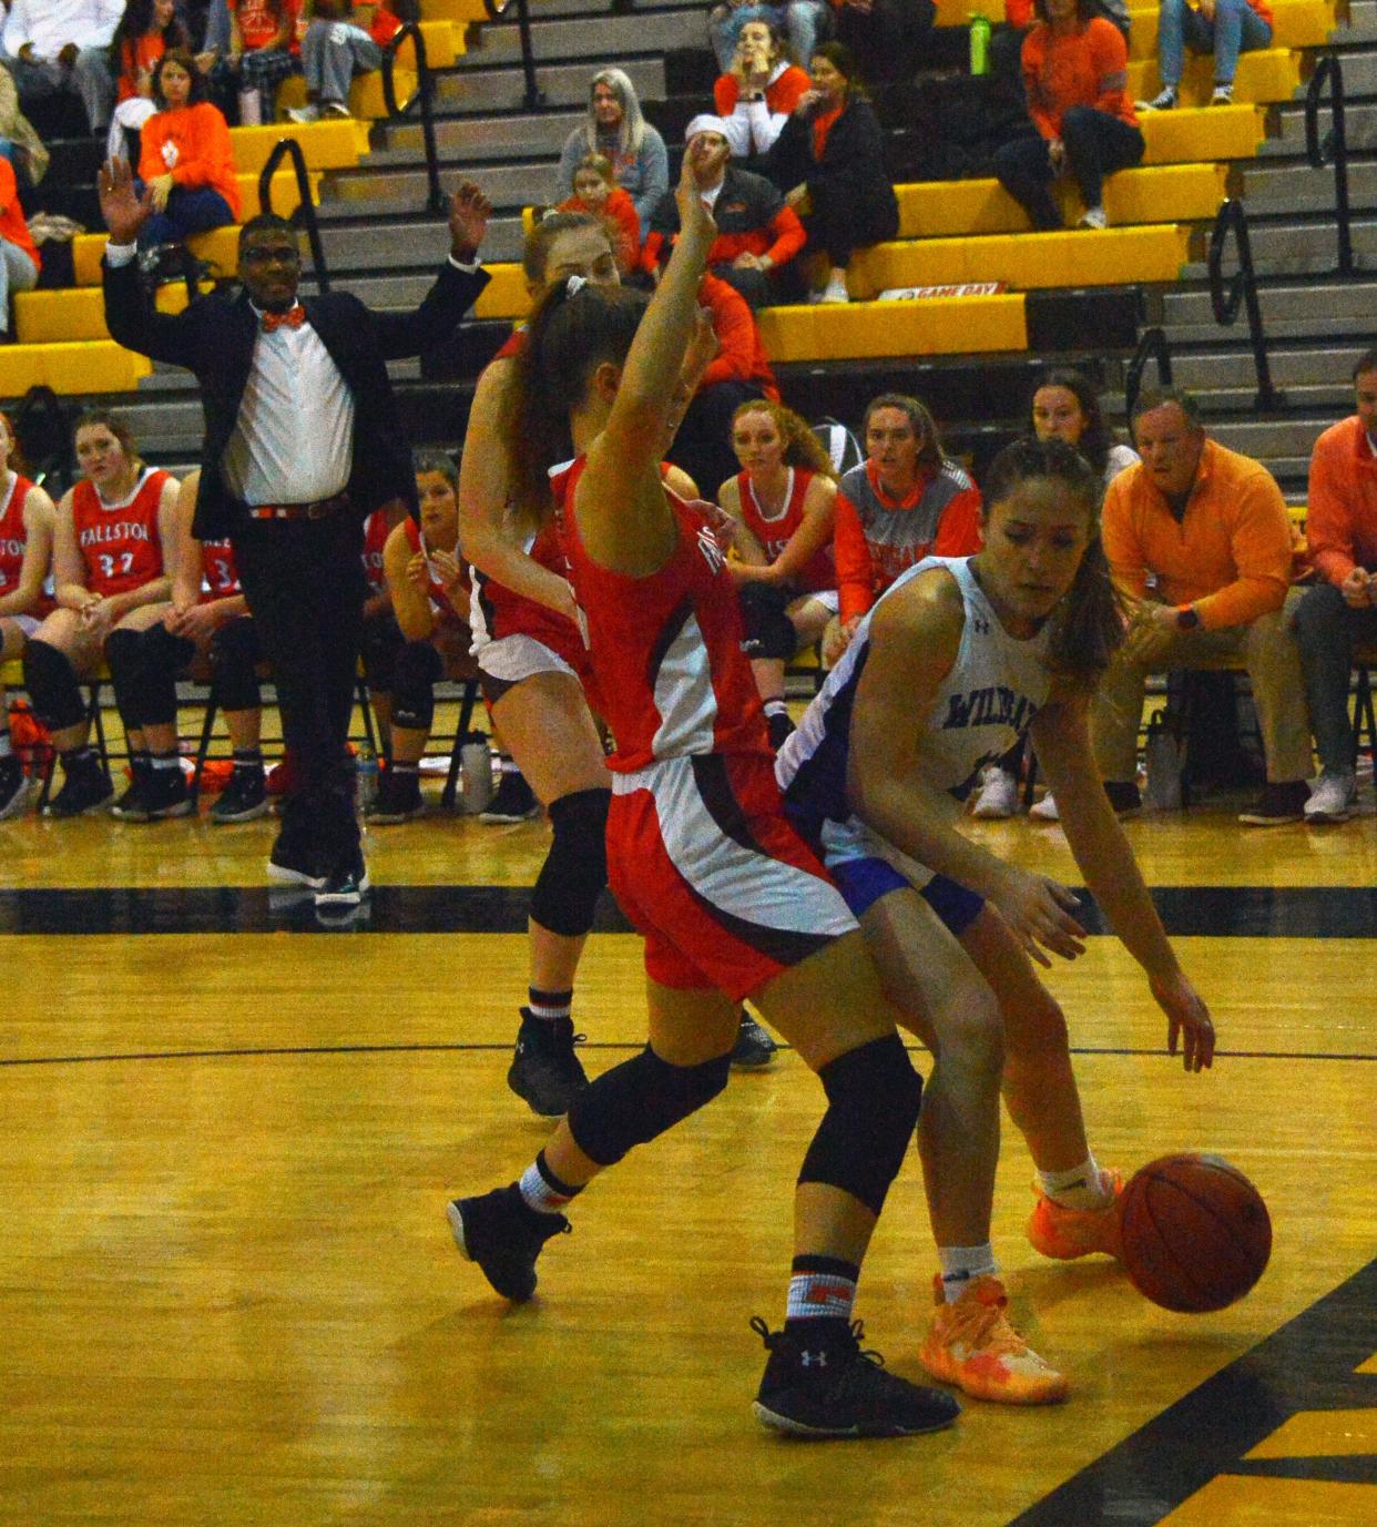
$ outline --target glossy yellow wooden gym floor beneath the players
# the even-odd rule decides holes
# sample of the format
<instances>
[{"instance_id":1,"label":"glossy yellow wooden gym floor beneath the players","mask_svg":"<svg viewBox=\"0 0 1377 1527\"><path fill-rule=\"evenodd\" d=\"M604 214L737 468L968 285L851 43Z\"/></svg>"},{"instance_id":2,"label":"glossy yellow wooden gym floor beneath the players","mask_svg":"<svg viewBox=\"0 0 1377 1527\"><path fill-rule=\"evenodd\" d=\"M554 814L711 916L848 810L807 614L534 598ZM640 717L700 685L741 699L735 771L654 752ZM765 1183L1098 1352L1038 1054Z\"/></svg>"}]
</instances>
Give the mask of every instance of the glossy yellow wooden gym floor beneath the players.
<instances>
[{"instance_id":1,"label":"glossy yellow wooden gym floor beneath the players","mask_svg":"<svg viewBox=\"0 0 1377 1527\"><path fill-rule=\"evenodd\" d=\"M437 788L437 786L432 786ZM438 788L437 788L438 789ZM574 1212L508 1309L443 1209L545 1127L504 1083L540 823L368 838L371 919L264 887L270 823L0 825L0 1522L263 1527L1359 1527L1377 1524L1377 825L1128 831L1220 1029L1212 1073L1117 944L1053 985L1102 1161L1217 1150L1272 1206L1256 1290L1214 1316L995 1245L1064 1406L969 1402L937 1437L756 1428L789 1186L818 1090L783 1052ZM979 831L1072 883L1056 828ZM595 933L591 1070L643 1040L637 941ZM933 1249L916 1162L861 1287L917 1376Z\"/></svg>"}]
</instances>

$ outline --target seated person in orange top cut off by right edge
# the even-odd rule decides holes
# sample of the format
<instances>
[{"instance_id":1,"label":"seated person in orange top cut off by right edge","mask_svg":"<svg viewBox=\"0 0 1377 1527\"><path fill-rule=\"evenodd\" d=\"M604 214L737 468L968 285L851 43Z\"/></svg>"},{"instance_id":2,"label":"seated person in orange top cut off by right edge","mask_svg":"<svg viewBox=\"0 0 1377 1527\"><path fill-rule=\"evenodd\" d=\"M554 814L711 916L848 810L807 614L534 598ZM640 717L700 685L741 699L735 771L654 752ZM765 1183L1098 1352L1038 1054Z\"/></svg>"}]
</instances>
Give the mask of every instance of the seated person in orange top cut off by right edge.
<instances>
[{"instance_id":1,"label":"seated person in orange top cut off by right edge","mask_svg":"<svg viewBox=\"0 0 1377 1527\"><path fill-rule=\"evenodd\" d=\"M1295 617L1321 767L1307 822L1346 822L1353 812L1353 649L1377 644L1377 350L1359 357L1353 391L1357 411L1327 429L1310 458L1305 539L1321 582Z\"/></svg>"}]
</instances>

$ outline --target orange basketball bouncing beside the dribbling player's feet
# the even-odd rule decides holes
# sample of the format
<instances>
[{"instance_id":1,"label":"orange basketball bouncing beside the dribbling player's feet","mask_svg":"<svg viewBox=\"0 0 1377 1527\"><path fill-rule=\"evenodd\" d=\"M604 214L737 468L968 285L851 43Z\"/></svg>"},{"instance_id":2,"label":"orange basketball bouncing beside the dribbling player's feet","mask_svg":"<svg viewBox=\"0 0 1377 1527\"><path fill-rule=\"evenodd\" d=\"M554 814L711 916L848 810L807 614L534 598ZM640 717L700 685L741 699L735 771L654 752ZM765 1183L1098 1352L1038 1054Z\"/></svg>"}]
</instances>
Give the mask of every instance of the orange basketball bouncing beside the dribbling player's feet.
<instances>
[{"instance_id":1,"label":"orange basketball bouncing beside the dribbling player's feet","mask_svg":"<svg viewBox=\"0 0 1377 1527\"><path fill-rule=\"evenodd\" d=\"M1221 1156L1162 1156L1124 1190L1124 1267L1139 1293L1194 1315L1241 1299L1272 1255L1258 1190Z\"/></svg>"}]
</instances>

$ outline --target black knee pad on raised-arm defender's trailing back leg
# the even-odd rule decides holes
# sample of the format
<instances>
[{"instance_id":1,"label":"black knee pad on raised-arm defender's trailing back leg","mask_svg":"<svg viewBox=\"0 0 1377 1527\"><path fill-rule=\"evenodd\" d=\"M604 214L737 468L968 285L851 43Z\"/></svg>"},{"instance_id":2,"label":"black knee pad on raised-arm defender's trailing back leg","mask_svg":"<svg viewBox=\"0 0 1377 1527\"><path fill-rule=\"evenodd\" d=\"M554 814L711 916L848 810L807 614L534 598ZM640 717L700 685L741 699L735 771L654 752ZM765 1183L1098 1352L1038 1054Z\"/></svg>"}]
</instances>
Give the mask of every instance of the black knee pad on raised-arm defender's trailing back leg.
<instances>
[{"instance_id":1,"label":"black knee pad on raised-arm defender's trailing back leg","mask_svg":"<svg viewBox=\"0 0 1377 1527\"><path fill-rule=\"evenodd\" d=\"M731 1052L701 1066L670 1066L647 1044L640 1055L605 1070L569 1109L569 1133L589 1161L611 1167L632 1145L664 1135L727 1086Z\"/></svg>"}]
</instances>

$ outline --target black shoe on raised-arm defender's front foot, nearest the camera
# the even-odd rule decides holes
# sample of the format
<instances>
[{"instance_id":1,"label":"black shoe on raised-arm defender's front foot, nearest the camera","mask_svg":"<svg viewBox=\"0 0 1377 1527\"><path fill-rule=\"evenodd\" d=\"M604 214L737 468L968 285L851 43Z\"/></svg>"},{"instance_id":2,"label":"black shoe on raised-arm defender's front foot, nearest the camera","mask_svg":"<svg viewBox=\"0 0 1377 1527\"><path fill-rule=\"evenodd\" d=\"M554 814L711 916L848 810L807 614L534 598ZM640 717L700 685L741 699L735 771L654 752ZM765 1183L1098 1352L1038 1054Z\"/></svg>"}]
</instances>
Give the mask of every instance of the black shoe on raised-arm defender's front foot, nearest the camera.
<instances>
[{"instance_id":1,"label":"black shoe on raised-arm defender's front foot, nearest the camera","mask_svg":"<svg viewBox=\"0 0 1377 1527\"><path fill-rule=\"evenodd\" d=\"M771 1431L817 1438L914 1437L950 1426L962 1412L945 1390L910 1383L888 1373L878 1351L863 1351L859 1321L806 1321L803 1332L771 1332L753 1315L751 1330L769 1350L753 1409Z\"/></svg>"}]
</instances>

